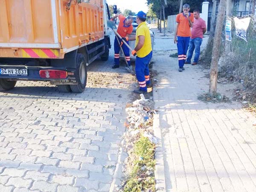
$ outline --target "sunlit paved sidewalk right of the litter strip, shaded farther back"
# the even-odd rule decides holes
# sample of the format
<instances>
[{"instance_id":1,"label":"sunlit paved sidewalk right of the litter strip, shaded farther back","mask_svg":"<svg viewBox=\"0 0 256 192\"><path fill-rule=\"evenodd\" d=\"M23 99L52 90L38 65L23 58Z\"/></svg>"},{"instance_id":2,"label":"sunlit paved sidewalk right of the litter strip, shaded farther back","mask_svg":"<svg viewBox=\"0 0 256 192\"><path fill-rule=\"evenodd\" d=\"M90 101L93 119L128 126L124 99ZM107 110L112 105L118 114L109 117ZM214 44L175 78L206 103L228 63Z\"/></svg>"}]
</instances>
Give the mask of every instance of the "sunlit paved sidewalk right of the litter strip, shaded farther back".
<instances>
[{"instance_id":1,"label":"sunlit paved sidewalk right of the litter strip, shaded farther back","mask_svg":"<svg viewBox=\"0 0 256 192\"><path fill-rule=\"evenodd\" d=\"M156 157L159 191L255 192L255 117L237 102L199 101L198 95L209 87L205 70L185 65L180 73L177 58L169 54L153 55L157 70L153 94L162 144Z\"/></svg>"}]
</instances>

